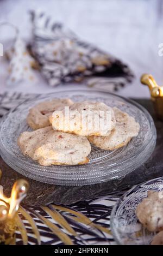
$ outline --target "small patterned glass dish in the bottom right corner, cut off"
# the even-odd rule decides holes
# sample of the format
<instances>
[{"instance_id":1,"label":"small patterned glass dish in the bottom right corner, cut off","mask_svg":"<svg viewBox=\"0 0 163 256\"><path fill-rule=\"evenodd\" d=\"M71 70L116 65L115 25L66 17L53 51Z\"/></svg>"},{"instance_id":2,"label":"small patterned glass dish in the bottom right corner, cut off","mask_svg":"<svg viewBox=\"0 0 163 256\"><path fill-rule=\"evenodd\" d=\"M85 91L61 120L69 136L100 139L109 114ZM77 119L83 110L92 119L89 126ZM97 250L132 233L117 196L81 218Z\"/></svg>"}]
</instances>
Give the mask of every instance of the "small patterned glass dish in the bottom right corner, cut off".
<instances>
[{"instance_id":1,"label":"small patterned glass dish in the bottom right corner, cut off","mask_svg":"<svg viewBox=\"0 0 163 256\"><path fill-rule=\"evenodd\" d=\"M163 190L163 177L134 186L117 201L110 217L111 232L118 245L151 245L154 232L149 232L138 221L136 207L147 197L148 190Z\"/></svg>"}]
</instances>

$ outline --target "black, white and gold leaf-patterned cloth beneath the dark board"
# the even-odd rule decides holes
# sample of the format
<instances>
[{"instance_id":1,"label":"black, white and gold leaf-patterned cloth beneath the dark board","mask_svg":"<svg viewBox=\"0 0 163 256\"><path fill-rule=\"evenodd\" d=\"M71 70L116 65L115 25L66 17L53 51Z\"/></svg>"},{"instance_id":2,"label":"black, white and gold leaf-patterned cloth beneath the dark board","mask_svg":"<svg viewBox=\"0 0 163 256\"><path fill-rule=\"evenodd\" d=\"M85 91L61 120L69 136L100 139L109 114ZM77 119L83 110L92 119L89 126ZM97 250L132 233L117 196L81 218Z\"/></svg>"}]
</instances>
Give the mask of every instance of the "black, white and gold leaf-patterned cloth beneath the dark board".
<instances>
[{"instance_id":1,"label":"black, white and gold leaf-patterned cloth beneath the dark board","mask_svg":"<svg viewBox=\"0 0 163 256\"><path fill-rule=\"evenodd\" d=\"M16 92L0 94L0 120L11 108L34 96L35 94ZM116 242L110 231L110 214L112 207L123 193L116 192L106 197L83 200L73 205L63 206L62 209L59 208L60 206L55 205L49 205L47 207L50 210L55 209L60 215L60 219L62 220L64 218L68 225L76 232L76 235L70 234L73 245L115 245ZM64 235L67 234L67 229L63 227L62 221L56 221L42 207L36 207L35 205L22 205L22 207L34 219L40 234L41 245L64 245L64 239L61 238L62 235L58 236L57 233L52 232L45 219L57 225L61 234ZM79 217L79 214L82 214L82 219ZM26 228L28 245L37 245L37 239L34 237L30 223L21 212L19 215ZM73 216L76 217L73 219ZM15 243L16 245L23 244L21 233L18 231L16 232Z\"/></svg>"}]
</instances>

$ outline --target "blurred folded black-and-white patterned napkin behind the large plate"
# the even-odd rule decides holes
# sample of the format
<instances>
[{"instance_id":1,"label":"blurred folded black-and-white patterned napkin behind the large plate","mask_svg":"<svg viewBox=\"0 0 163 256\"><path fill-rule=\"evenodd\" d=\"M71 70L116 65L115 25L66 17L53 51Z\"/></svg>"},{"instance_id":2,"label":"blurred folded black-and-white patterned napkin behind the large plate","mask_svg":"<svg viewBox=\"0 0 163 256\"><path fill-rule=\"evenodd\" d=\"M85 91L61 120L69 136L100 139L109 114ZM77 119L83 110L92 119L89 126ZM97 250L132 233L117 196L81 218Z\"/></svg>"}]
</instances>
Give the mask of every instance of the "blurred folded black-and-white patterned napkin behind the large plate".
<instances>
[{"instance_id":1,"label":"blurred folded black-and-white patterned napkin behind the large plate","mask_svg":"<svg viewBox=\"0 0 163 256\"><path fill-rule=\"evenodd\" d=\"M119 59L80 40L45 13L31 14L33 40L29 47L50 86L85 78L88 86L110 86L110 91L117 91L133 80L133 73Z\"/></svg>"}]
</instances>

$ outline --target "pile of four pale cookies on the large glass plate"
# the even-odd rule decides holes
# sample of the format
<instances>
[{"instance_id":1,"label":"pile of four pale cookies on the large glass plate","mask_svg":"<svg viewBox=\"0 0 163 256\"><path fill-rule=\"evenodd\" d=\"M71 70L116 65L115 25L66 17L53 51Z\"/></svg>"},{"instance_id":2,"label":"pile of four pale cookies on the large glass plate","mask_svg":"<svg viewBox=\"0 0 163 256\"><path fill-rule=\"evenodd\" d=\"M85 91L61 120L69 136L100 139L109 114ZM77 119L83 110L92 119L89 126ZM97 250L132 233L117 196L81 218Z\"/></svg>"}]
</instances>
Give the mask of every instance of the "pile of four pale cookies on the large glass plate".
<instances>
[{"instance_id":1,"label":"pile of four pale cookies on the large glass plate","mask_svg":"<svg viewBox=\"0 0 163 256\"><path fill-rule=\"evenodd\" d=\"M109 114L109 115L108 115ZM102 102L52 99L29 110L17 144L24 156L40 165L77 165L89 162L91 144L115 150L139 134L139 123L120 109Z\"/></svg>"}]
</instances>

